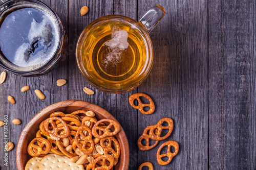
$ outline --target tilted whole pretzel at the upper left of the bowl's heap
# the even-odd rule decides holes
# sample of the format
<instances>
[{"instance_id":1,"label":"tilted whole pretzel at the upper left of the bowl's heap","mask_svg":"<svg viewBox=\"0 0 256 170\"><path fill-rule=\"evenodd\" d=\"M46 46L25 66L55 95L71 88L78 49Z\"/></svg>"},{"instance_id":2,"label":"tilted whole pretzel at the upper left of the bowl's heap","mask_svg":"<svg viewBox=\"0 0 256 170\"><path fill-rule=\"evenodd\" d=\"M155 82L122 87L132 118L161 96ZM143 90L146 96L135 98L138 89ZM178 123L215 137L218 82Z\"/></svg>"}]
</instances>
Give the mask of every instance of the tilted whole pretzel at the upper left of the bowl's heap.
<instances>
[{"instance_id":1,"label":"tilted whole pretzel at the upper left of the bowl's heap","mask_svg":"<svg viewBox=\"0 0 256 170\"><path fill-rule=\"evenodd\" d=\"M56 121L61 122L61 124L63 126L62 127L57 127L57 125L55 124ZM49 125L51 125L52 130L49 129ZM70 132L67 123L60 117L49 117L49 118L47 118L44 122L44 128L48 133L53 134L54 136L56 136L58 138L67 137L67 136L69 136L69 132ZM62 133L59 134L61 131L62 131Z\"/></svg>"}]
</instances>

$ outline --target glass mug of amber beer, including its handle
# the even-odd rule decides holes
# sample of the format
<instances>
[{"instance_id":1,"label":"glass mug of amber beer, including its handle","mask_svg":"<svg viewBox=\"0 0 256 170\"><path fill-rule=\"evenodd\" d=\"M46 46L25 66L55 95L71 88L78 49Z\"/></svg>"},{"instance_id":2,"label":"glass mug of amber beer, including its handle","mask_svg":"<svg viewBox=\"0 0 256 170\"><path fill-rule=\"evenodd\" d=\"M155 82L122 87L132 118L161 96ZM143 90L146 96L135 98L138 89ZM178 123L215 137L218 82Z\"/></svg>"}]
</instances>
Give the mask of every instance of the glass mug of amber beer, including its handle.
<instances>
[{"instance_id":1,"label":"glass mug of amber beer, including its handle","mask_svg":"<svg viewBox=\"0 0 256 170\"><path fill-rule=\"evenodd\" d=\"M164 8L156 5L138 22L121 15L92 21L76 45L76 62L88 83L110 93L139 86L153 65L153 45L148 33L164 14Z\"/></svg>"}]
</instances>

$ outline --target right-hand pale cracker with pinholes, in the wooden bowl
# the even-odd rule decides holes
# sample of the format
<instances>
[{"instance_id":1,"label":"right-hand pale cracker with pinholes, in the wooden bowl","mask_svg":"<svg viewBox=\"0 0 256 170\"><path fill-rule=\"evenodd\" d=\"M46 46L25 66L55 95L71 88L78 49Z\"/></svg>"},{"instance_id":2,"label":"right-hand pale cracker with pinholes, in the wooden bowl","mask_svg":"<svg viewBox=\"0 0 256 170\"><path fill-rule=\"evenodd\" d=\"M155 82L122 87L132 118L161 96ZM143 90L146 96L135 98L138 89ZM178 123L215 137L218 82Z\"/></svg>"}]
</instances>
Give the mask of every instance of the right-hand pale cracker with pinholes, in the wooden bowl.
<instances>
[{"instance_id":1,"label":"right-hand pale cracker with pinholes, in the wooden bowl","mask_svg":"<svg viewBox=\"0 0 256 170\"><path fill-rule=\"evenodd\" d=\"M46 155L39 164L39 170L83 170L83 165L78 165L70 161L67 156L59 156L56 154Z\"/></svg>"}]
</instances>

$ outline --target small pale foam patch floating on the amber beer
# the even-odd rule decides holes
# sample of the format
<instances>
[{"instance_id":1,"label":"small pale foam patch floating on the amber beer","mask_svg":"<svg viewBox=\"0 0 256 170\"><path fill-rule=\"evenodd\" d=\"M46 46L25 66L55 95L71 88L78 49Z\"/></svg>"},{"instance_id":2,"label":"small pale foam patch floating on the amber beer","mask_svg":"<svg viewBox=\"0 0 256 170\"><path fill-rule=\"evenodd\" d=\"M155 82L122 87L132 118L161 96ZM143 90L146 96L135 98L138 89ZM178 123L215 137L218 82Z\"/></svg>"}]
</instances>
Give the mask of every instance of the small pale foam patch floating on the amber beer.
<instances>
[{"instance_id":1,"label":"small pale foam patch floating on the amber beer","mask_svg":"<svg viewBox=\"0 0 256 170\"><path fill-rule=\"evenodd\" d=\"M109 47L109 53L106 54L104 58L104 64L109 64L110 62L114 65L121 62L121 55L123 51L129 46L127 42L128 33L125 30L113 31L112 39L105 42L105 45Z\"/></svg>"}]
</instances>

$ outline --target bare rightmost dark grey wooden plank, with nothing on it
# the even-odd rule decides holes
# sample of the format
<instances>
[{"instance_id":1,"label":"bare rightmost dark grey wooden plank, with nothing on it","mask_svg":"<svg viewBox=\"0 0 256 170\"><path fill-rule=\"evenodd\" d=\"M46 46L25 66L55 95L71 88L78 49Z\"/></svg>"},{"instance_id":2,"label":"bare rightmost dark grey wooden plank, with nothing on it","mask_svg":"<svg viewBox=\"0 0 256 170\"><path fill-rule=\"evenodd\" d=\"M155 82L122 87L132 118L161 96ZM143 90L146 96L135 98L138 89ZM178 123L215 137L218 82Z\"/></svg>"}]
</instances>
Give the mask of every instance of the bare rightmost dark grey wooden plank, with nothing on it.
<instances>
[{"instance_id":1,"label":"bare rightmost dark grey wooden plank, with nothing on it","mask_svg":"<svg viewBox=\"0 0 256 170\"><path fill-rule=\"evenodd\" d=\"M255 169L255 2L209 1L209 168Z\"/></svg>"}]
</instances>

